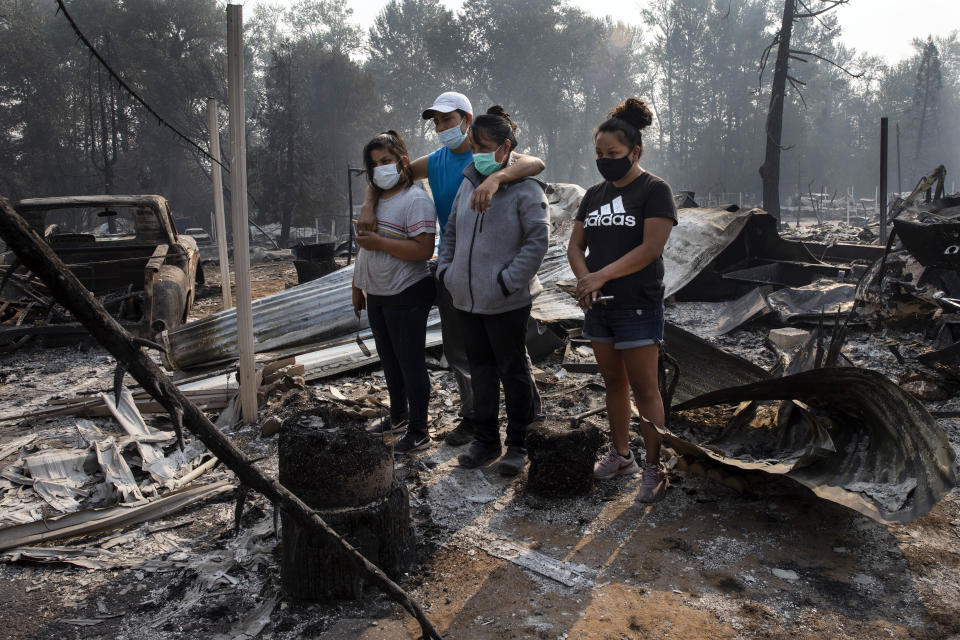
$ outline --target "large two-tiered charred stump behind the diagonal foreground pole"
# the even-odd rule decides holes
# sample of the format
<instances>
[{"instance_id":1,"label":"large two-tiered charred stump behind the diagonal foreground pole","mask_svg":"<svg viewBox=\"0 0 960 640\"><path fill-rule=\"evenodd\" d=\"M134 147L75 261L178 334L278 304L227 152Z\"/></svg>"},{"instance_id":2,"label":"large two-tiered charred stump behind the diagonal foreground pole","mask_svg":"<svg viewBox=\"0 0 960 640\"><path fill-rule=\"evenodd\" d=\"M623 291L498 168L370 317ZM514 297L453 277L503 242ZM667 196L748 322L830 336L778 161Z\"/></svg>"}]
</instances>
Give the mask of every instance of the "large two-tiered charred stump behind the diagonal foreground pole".
<instances>
[{"instance_id":1,"label":"large two-tiered charred stump behind the diagonal foreground pole","mask_svg":"<svg viewBox=\"0 0 960 640\"><path fill-rule=\"evenodd\" d=\"M280 482L391 578L411 565L413 529L407 488L393 477L393 454L364 423L319 407L285 421ZM357 599L365 575L330 542L281 514L281 581L300 600Z\"/></svg>"}]
</instances>

